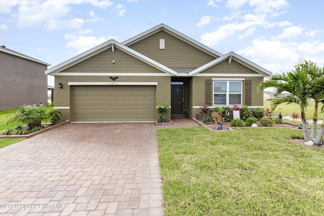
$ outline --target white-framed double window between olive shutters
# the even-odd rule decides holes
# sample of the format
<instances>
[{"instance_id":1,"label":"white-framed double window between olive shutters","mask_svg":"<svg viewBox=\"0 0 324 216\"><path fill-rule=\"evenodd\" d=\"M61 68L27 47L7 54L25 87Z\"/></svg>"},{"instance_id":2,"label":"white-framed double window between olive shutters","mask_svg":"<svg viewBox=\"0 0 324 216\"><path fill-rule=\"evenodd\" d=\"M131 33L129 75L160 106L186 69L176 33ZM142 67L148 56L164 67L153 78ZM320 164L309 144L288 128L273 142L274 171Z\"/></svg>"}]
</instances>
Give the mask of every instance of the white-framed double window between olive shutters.
<instances>
[{"instance_id":1,"label":"white-framed double window between olive shutters","mask_svg":"<svg viewBox=\"0 0 324 216\"><path fill-rule=\"evenodd\" d=\"M214 106L242 105L242 81L214 81L213 93Z\"/></svg>"}]
</instances>

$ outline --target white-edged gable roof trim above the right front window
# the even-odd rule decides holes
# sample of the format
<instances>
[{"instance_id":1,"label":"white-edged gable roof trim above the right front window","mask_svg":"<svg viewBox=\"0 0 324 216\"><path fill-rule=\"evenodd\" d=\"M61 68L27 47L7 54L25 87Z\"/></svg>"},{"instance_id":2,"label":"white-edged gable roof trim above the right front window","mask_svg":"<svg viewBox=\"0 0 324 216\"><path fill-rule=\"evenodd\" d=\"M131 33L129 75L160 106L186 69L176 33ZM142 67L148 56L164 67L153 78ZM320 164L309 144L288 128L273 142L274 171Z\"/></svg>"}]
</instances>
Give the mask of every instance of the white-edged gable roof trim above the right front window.
<instances>
[{"instance_id":1,"label":"white-edged gable roof trim above the right front window","mask_svg":"<svg viewBox=\"0 0 324 216\"><path fill-rule=\"evenodd\" d=\"M240 55L234 53L234 52L229 52L221 57L219 57L218 59L215 59L214 61L211 61L201 67L198 67L197 69L191 71L188 73L189 76L194 76L195 74L197 73L200 73L201 71L204 71L214 65L217 65L218 63L226 60L226 59L229 59L229 63L230 61L233 59L235 60L236 62L246 66L247 68L250 68L251 70L254 70L256 71L257 73L263 75L264 77L266 76L271 76L272 73L266 69L264 69L263 67L251 62L250 60L244 58L244 57L241 57Z\"/></svg>"}]
</instances>

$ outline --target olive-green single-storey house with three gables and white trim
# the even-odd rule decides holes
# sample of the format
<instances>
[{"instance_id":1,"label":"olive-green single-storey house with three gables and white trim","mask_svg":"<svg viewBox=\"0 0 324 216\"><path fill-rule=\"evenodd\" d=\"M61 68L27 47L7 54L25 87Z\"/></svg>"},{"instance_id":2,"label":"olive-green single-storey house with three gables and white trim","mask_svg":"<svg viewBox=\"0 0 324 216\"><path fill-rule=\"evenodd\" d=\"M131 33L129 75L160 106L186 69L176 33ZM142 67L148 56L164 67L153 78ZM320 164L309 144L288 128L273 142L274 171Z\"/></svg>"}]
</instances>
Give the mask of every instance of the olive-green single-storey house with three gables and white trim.
<instances>
[{"instance_id":1,"label":"olive-green single-storey house with three gables and white trim","mask_svg":"<svg viewBox=\"0 0 324 216\"><path fill-rule=\"evenodd\" d=\"M106 41L46 74L55 76L62 120L151 122L166 103L167 118L196 117L204 104L263 107L256 90L271 72L160 24L121 43Z\"/></svg>"}]
</instances>

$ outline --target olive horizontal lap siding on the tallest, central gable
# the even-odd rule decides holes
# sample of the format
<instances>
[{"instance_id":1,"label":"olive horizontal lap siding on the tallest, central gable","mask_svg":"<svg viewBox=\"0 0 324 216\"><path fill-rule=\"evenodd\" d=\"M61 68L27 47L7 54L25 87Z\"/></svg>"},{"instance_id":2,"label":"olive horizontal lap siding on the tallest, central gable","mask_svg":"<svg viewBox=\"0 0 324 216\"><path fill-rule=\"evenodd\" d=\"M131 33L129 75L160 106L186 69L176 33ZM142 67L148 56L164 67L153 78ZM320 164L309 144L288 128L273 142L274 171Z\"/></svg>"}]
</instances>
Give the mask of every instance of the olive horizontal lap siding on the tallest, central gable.
<instances>
[{"instance_id":1,"label":"olive horizontal lap siding on the tallest, central gable","mask_svg":"<svg viewBox=\"0 0 324 216\"><path fill-rule=\"evenodd\" d=\"M164 50L159 49L160 39L165 39ZM152 34L130 45L129 48L167 67L198 68L215 60L215 57L198 50L165 31Z\"/></svg>"}]
</instances>

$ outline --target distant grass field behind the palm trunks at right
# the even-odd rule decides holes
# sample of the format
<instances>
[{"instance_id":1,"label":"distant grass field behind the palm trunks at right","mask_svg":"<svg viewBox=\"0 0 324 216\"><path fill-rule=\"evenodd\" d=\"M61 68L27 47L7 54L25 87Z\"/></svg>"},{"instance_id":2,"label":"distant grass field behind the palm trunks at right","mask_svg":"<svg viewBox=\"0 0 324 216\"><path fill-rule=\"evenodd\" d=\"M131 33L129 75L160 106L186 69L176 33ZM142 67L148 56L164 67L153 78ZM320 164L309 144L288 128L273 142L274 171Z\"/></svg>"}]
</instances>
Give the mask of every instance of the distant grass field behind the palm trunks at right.
<instances>
[{"instance_id":1,"label":"distant grass field behind the palm trunks at right","mask_svg":"<svg viewBox=\"0 0 324 216\"><path fill-rule=\"evenodd\" d=\"M264 101L263 102L264 108L271 107L271 101ZM284 116L291 116L292 112L297 112L300 115L300 107L296 104L280 104L275 108L273 111L275 114L279 114L279 108L281 108L281 114ZM306 109L306 119L313 119L314 113L314 102L310 101L308 108ZM301 118L301 117L299 117ZM324 120L324 113L320 113L320 107L318 109L318 120Z\"/></svg>"}]
</instances>

